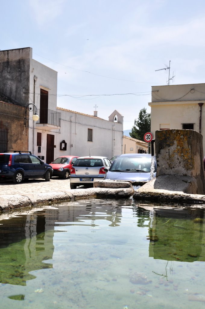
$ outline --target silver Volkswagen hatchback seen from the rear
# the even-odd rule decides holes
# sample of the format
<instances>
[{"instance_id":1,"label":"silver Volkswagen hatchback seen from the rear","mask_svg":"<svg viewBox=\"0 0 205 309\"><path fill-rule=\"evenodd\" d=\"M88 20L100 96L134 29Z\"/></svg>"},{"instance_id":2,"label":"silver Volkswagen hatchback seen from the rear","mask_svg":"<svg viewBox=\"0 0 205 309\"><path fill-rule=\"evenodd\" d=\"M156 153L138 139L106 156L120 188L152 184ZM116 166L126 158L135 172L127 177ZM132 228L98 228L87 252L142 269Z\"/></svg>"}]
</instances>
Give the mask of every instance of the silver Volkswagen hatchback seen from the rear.
<instances>
[{"instance_id":1,"label":"silver Volkswagen hatchback seen from the rear","mask_svg":"<svg viewBox=\"0 0 205 309\"><path fill-rule=\"evenodd\" d=\"M111 162L106 157L80 157L70 170L70 188L76 189L77 186L93 187L94 180L103 180L109 169Z\"/></svg>"}]
</instances>

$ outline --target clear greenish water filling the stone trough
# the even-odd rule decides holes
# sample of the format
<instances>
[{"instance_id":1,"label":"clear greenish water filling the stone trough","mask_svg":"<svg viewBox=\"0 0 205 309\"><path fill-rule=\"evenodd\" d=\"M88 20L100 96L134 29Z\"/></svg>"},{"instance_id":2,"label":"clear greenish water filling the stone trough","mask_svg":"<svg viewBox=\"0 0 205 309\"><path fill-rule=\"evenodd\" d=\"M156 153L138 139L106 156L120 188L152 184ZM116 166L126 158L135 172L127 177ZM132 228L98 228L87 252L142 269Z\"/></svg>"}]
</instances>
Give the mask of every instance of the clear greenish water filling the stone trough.
<instances>
[{"instance_id":1,"label":"clear greenish water filling the stone trough","mask_svg":"<svg viewBox=\"0 0 205 309\"><path fill-rule=\"evenodd\" d=\"M204 308L204 207L89 199L2 214L1 308Z\"/></svg>"}]
</instances>

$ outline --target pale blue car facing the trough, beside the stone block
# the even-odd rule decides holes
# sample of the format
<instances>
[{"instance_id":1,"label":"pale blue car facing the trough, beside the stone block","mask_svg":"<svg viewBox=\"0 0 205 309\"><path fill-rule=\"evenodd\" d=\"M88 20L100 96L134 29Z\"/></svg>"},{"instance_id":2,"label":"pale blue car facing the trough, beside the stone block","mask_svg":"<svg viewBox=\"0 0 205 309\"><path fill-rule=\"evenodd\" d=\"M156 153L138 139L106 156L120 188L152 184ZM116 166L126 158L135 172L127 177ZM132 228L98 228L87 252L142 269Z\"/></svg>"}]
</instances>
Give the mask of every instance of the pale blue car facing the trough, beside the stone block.
<instances>
[{"instance_id":1,"label":"pale blue car facing the trough, beside the stone block","mask_svg":"<svg viewBox=\"0 0 205 309\"><path fill-rule=\"evenodd\" d=\"M152 159L150 154L123 154L115 159L109 169L104 169L107 172L104 180L124 180L136 186L143 185L152 176L156 177L156 169L155 156Z\"/></svg>"}]
</instances>

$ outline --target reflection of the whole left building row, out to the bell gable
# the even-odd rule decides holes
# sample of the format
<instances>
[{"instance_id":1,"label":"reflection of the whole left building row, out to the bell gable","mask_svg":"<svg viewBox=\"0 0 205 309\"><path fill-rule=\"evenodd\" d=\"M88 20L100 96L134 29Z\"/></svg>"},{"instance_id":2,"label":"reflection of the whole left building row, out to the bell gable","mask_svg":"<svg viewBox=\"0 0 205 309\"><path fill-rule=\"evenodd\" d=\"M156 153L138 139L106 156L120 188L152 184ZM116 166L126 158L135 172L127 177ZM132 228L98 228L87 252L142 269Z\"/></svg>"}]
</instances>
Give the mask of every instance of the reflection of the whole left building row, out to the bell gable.
<instances>
[{"instance_id":1,"label":"reflection of the whole left building row, out to the bell gable","mask_svg":"<svg viewBox=\"0 0 205 309\"><path fill-rule=\"evenodd\" d=\"M54 229L58 226L89 225L97 220L109 221L109 226L118 226L122 217L121 207L110 207L110 201L79 202L59 207L42 209L29 214L19 214L9 220L0 216L0 282L26 285L35 277L34 270L52 268ZM111 222L111 223L110 223ZM56 227L56 228L55 228Z\"/></svg>"}]
</instances>

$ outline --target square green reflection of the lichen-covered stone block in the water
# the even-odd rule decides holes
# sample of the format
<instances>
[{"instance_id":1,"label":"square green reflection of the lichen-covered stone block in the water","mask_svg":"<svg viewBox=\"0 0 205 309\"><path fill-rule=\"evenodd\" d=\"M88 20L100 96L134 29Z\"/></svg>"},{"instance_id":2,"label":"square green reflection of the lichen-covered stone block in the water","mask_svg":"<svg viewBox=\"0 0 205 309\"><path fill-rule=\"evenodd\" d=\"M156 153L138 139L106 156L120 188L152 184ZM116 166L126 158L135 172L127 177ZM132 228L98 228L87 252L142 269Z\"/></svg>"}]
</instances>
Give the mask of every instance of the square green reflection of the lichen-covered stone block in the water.
<instances>
[{"instance_id":1,"label":"square green reflection of the lichen-covered stone block in the water","mask_svg":"<svg viewBox=\"0 0 205 309\"><path fill-rule=\"evenodd\" d=\"M149 256L167 261L205 261L204 223L204 209L154 209L150 213Z\"/></svg>"}]
</instances>

